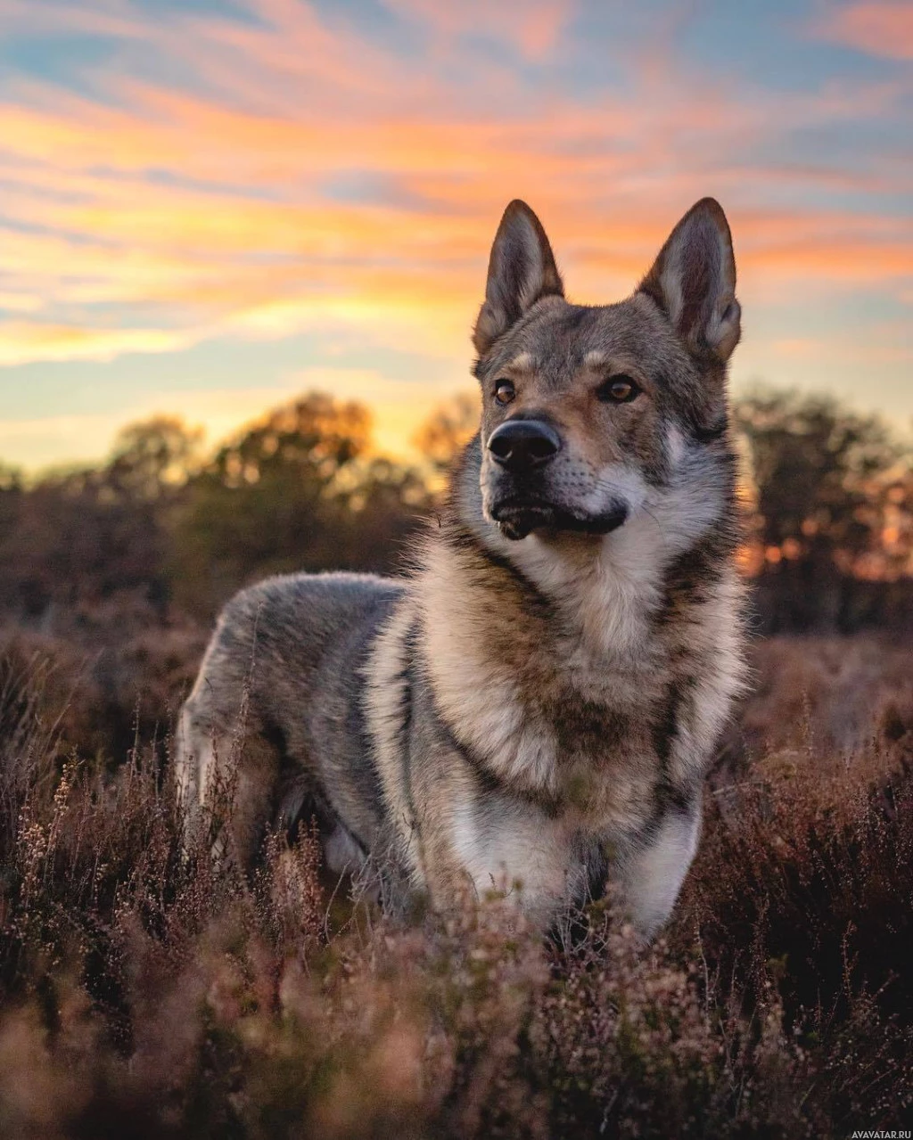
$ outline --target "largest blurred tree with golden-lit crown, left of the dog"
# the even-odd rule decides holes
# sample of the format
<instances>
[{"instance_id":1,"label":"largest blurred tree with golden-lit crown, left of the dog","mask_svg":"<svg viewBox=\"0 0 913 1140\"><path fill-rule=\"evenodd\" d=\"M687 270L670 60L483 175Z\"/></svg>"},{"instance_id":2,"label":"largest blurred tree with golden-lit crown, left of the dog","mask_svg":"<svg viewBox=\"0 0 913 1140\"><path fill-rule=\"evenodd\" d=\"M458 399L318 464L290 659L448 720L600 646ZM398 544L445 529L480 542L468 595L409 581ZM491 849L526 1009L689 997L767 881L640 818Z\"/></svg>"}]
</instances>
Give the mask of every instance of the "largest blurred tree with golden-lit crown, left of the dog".
<instances>
[{"instance_id":1,"label":"largest blurred tree with golden-lit crown, left of the dog","mask_svg":"<svg viewBox=\"0 0 913 1140\"><path fill-rule=\"evenodd\" d=\"M291 570L383 569L415 524L413 472L366 457L364 407L311 393L223 446L190 483L173 577L187 604Z\"/></svg>"}]
</instances>

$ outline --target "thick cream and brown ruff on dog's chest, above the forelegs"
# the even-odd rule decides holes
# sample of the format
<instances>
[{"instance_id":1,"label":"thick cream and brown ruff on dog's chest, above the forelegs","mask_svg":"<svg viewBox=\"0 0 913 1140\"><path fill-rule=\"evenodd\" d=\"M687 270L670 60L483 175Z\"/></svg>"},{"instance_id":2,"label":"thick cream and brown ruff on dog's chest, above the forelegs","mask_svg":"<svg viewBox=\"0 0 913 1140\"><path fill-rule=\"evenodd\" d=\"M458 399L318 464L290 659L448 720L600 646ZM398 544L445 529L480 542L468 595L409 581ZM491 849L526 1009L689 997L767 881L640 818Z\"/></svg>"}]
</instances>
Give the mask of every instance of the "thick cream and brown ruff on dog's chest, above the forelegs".
<instances>
[{"instance_id":1,"label":"thick cream and brown ruff on dog's chest, above the forelegs","mask_svg":"<svg viewBox=\"0 0 913 1140\"><path fill-rule=\"evenodd\" d=\"M653 793L703 774L739 686L734 578L685 596L595 570L562 604L482 573L483 557L432 553L417 592L440 715L505 787L573 826L641 825Z\"/></svg>"}]
</instances>

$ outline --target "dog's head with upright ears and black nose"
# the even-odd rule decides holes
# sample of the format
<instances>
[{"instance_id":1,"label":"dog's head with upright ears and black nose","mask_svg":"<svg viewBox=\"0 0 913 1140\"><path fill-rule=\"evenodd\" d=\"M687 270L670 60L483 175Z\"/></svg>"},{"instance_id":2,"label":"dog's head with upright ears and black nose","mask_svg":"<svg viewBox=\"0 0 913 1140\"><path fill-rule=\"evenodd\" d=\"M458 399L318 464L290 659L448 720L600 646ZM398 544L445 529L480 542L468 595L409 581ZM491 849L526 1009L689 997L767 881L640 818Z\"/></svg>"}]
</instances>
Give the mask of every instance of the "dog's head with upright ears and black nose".
<instances>
[{"instance_id":1,"label":"dog's head with upright ears and black nose","mask_svg":"<svg viewBox=\"0 0 913 1140\"><path fill-rule=\"evenodd\" d=\"M473 337L482 506L503 535L609 534L724 435L734 291L712 198L678 222L630 298L601 307L565 301L538 218L507 206Z\"/></svg>"}]
</instances>

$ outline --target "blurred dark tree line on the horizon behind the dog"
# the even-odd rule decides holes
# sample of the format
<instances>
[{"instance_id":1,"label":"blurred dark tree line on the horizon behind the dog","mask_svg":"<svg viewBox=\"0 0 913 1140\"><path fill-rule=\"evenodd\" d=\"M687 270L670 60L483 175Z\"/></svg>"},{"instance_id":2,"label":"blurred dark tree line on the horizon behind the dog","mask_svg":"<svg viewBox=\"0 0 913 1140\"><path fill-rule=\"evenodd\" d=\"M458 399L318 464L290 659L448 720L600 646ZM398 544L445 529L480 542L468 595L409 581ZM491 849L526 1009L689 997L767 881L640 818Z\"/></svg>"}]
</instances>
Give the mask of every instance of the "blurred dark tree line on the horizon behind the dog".
<instances>
[{"instance_id":1,"label":"blurred dark tree line on the horizon behind the dog","mask_svg":"<svg viewBox=\"0 0 913 1140\"><path fill-rule=\"evenodd\" d=\"M266 573L394 570L476 415L468 397L438 409L416 463L373 451L361 405L309 393L212 454L160 416L98 466L31 481L0 466L0 620L52 629L128 602L209 619ZM758 390L733 421L759 630L913 625L910 441L794 392Z\"/></svg>"}]
</instances>

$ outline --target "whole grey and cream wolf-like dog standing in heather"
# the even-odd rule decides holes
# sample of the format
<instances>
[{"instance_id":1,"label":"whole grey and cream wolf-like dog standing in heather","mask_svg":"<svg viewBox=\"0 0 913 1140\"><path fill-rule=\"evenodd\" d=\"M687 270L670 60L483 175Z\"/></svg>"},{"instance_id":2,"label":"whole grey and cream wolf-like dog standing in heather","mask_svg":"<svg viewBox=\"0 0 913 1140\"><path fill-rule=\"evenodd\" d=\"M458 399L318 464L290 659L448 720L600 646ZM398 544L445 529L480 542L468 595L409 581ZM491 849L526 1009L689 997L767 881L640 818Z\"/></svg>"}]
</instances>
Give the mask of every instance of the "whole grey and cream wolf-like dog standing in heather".
<instances>
[{"instance_id":1,"label":"whole grey and cream wolf-like dog standing in heather","mask_svg":"<svg viewBox=\"0 0 913 1140\"><path fill-rule=\"evenodd\" d=\"M612 883L651 937L743 683L740 318L714 199L595 307L565 300L512 202L473 333L481 423L441 518L402 578L291 575L229 602L178 728L190 821L244 707L239 858L308 804L336 871L370 858L435 907L506 887L543 927Z\"/></svg>"}]
</instances>

